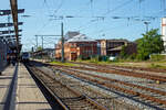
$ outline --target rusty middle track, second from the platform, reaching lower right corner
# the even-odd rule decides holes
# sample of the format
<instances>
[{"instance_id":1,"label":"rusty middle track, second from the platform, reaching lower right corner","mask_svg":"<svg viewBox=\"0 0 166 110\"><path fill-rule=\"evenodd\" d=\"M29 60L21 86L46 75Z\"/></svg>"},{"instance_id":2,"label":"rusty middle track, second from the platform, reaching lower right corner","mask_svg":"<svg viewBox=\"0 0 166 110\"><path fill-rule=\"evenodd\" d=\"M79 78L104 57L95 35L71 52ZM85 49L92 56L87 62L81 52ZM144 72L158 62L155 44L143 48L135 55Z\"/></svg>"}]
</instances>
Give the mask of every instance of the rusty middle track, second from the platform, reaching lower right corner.
<instances>
[{"instance_id":1,"label":"rusty middle track, second from the platform, reaching lower right corner","mask_svg":"<svg viewBox=\"0 0 166 110\"><path fill-rule=\"evenodd\" d=\"M138 86L138 85L133 85L133 84L128 84L125 81L120 81L120 80L115 80L115 79L111 79L106 77L101 77L101 76L96 76L92 74L86 74L86 73L74 70L71 68L58 67L56 69L60 69L63 73L68 73L69 75L72 75L74 77L79 77L81 79L85 79L91 82L95 82L97 85L102 85L104 87L124 92L126 95L138 97L145 102L148 101L148 103L153 103L153 105L155 103L154 106L156 107L166 108L166 97L165 97L166 92L165 91L160 91L157 89L152 89L152 88L147 88L147 87ZM165 99L163 99L163 97L165 97Z\"/></svg>"}]
</instances>

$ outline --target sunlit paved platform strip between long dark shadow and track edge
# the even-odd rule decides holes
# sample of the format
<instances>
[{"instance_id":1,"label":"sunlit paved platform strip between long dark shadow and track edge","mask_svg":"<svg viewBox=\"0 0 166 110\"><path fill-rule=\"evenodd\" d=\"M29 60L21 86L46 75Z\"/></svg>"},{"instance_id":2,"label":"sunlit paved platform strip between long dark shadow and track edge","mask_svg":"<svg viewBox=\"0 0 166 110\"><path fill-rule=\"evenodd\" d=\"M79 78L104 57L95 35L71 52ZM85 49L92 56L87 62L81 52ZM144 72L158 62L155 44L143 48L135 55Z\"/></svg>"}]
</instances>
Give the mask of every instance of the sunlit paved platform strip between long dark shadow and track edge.
<instances>
[{"instance_id":1,"label":"sunlit paved platform strip between long dark shadow and track edge","mask_svg":"<svg viewBox=\"0 0 166 110\"><path fill-rule=\"evenodd\" d=\"M50 110L51 107L28 73L19 64L15 110Z\"/></svg>"}]
</instances>

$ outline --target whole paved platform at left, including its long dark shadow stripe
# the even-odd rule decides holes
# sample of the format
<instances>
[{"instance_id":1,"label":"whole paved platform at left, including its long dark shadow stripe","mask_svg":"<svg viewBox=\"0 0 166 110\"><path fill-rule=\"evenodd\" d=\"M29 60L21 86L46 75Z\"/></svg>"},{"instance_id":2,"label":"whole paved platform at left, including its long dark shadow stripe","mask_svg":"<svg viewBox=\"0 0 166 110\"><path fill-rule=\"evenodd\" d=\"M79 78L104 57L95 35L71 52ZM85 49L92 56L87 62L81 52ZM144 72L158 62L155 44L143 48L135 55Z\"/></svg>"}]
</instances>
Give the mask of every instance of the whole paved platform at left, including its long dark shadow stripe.
<instances>
[{"instance_id":1,"label":"whole paved platform at left, including its long dark shadow stripe","mask_svg":"<svg viewBox=\"0 0 166 110\"><path fill-rule=\"evenodd\" d=\"M0 76L0 110L52 110L22 64L9 66Z\"/></svg>"}]
</instances>

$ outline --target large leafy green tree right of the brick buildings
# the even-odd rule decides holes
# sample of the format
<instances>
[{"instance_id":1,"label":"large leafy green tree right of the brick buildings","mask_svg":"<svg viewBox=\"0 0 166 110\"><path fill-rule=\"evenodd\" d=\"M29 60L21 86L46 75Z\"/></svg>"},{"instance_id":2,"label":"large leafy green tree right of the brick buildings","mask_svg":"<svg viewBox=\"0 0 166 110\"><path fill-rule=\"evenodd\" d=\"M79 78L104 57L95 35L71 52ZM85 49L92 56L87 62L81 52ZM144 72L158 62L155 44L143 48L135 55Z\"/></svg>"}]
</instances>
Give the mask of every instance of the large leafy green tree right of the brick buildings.
<instances>
[{"instance_id":1,"label":"large leafy green tree right of the brick buildings","mask_svg":"<svg viewBox=\"0 0 166 110\"><path fill-rule=\"evenodd\" d=\"M158 54L164 51L162 35L158 34L158 29L151 30L143 34L143 37L137 40L137 58L148 59L151 54Z\"/></svg>"}]
</instances>

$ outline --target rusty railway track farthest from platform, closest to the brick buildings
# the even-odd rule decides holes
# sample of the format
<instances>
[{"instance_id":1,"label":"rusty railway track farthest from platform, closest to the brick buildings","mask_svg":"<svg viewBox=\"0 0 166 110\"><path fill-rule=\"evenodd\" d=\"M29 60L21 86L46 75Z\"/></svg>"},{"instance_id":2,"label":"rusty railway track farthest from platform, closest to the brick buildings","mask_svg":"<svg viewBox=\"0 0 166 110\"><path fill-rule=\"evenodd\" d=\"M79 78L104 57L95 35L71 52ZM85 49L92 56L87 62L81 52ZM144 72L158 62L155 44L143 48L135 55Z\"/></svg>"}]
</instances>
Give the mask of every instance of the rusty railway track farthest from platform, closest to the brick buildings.
<instances>
[{"instance_id":1,"label":"rusty railway track farthest from platform, closest to the brick buildings","mask_svg":"<svg viewBox=\"0 0 166 110\"><path fill-rule=\"evenodd\" d=\"M124 77L131 77L131 78L138 78L143 79L141 85L147 86L149 88L157 88L162 89L163 91L165 90L166 87L166 74L163 72L156 70L148 70L148 68L138 68L138 67L121 67L121 66L110 66L110 65L97 65L97 64L86 64L86 63L74 63L74 64L80 64L81 69L90 68L91 69L104 69L106 74L113 74L113 76L124 76ZM136 68L136 69L135 69ZM143 70L142 70L143 69ZM97 72L97 70L95 70ZM104 73L103 72L103 73ZM115 72L115 73L112 73ZM117 74L116 74L117 73ZM147 80L146 80L147 79ZM126 80L127 81L127 80ZM159 85L158 85L159 84Z\"/></svg>"}]
</instances>

